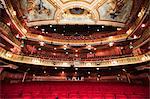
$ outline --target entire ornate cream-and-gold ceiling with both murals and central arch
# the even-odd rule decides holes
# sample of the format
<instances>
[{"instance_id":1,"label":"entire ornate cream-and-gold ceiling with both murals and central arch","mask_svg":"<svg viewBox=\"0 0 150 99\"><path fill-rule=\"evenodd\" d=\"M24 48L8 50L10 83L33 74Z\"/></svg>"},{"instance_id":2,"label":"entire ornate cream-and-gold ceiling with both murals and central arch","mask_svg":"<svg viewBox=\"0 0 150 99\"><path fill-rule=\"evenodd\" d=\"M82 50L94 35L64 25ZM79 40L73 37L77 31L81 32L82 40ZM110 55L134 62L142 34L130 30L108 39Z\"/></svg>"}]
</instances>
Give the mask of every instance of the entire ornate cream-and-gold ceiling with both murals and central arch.
<instances>
[{"instance_id":1,"label":"entire ornate cream-and-gold ceiling with both murals and central arch","mask_svg":"<svg viewBox=\"0 0 150 99\"><path fill-rule=\"evenodd\" d=\"M27 18L28 26L51 23L103 24L123 27L130 16L133 1L21 0L20 5L25 18ZM82 14L80 13L81 9L84 12ZM74 11L74 14L71 11Z\"/></svg>"}]
</instances>

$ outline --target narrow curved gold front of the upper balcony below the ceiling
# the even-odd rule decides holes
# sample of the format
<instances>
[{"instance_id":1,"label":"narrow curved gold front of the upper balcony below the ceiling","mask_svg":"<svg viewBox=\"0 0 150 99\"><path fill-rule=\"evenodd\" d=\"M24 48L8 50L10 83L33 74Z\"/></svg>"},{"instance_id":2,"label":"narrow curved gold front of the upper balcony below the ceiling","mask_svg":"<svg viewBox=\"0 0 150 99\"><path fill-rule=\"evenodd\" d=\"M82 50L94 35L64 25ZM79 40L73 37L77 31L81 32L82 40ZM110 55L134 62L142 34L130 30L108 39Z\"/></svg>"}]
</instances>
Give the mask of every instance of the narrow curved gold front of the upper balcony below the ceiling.
<instances>
[{"instance_id":1,"label":"narrow curved gold front of the upper balcony below the ceiling","mask_svg":"<svg viewBox=\"0 0 150 99\"><path fill-rule=\"evenodd\" d=\"M37 34L31 34L31 33L27 34L27 37L29 37L30 40L38 39L39 41L52 42L53 44L61 44L61 45L64 45L64 44L99 45L99 44L106 44L108 42L111 42L112 40L113 40L113 42L122 41L122 40L125 40L124 37L126 37L126 36L127 36L127 34L113 36L113 38L107 37L107 38L93 39L93 40L63 40L63 39L55 39L55 38L51 38L51 37L46 37L46 36L42 36L42 35L39 36Z\"/></svg>"}]
</instances>

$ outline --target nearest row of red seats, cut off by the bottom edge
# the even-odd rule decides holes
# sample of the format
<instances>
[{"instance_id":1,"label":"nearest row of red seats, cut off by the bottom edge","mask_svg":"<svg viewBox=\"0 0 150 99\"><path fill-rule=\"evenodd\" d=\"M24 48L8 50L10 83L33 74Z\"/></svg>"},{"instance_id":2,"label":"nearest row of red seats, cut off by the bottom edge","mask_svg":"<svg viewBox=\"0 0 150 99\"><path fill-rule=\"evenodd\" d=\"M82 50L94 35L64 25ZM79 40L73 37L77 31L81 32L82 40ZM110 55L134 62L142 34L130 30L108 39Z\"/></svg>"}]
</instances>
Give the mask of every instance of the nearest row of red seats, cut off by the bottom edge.
<instances>
[{"instance_id":1,"label":"nearest row of red seats, cut off by the bottom edge","mask_svg":"<svg viewBox=\"0 0 150 99\"><path fill-rule=\"evenodd\" d=\"M58 97L58 98L56 98ZM9 95L4 99L149 99L141 95L113 95L113 94L95 94L95 95Z\"/></svg>"}]
</instances>

